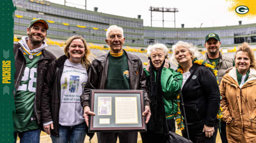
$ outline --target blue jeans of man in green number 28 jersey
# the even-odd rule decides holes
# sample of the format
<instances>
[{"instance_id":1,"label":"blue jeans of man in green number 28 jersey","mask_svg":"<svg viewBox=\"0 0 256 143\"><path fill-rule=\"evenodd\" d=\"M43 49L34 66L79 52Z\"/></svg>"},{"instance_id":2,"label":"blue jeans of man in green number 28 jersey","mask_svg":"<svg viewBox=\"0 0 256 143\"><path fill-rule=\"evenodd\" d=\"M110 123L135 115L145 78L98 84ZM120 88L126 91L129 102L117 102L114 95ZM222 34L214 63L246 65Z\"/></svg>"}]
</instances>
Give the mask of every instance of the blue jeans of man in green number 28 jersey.
<instances>
[{"instance_id":1,"label":"blue jeans of man in green number 28 jersey","mask_svg":"<svg viewBox=\"0 0 256 143\"><path fill-rule=\"evenodd\" d=\"M15 132L15 142L17 140L17 134L20 138L20 143L39 143L40 142L40 128L35 130L27 130L23 132Z\"/></svg>"}]
</instances>

